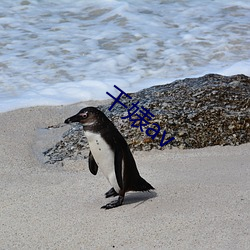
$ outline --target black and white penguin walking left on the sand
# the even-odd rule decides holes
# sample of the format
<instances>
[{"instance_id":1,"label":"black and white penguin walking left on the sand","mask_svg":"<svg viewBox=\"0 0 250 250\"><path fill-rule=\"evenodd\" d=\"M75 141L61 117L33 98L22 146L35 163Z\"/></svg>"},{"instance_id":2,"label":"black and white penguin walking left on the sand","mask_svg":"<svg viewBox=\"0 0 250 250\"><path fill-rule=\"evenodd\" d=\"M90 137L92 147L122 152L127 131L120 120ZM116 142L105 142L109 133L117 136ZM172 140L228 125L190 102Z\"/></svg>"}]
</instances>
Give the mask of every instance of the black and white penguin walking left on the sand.
<instances>
[{"instance_id":1,"label":"black and white penguin walking left on the sand","mask_svg":"<svg viewBox=\"0 0 250 250\"><path fill-rule=\"evenodd\" d=\"M65 123L79 122L87 137L89 152L89 170L93 175L98 168L111 185L105 193L106 198L118 196L101 208L111 209L121 206L128 191L149 191L154 189L139 174L129 146L114 124L95 107L86 107Z\"/></svg>"}]
</instances>

